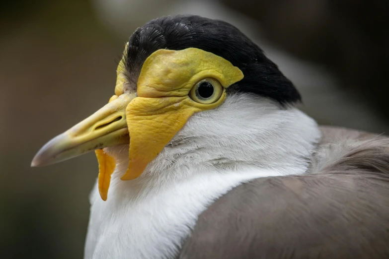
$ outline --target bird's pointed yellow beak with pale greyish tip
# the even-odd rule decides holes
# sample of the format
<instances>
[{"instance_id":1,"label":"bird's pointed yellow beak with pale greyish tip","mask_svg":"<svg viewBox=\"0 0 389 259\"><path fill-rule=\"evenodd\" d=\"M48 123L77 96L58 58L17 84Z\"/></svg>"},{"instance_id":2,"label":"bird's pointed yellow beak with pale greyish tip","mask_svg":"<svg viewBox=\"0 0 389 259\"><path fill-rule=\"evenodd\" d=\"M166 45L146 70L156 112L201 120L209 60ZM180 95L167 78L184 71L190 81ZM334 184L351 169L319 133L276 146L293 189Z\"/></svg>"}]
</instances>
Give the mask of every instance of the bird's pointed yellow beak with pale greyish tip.
<instances>
[{"instance_id":1,"label":"bird's pointed yellow beak with pale greyish tip","mask_svg":"<svg viewBox=\"0 0 389 259\"><path fill-rule=\"evenodd\" d=\"M130 142L126 107L135 94L122 94L76 126L47 142L31 166L58 163L95 149Z\"/></svg>"}]
</instances>

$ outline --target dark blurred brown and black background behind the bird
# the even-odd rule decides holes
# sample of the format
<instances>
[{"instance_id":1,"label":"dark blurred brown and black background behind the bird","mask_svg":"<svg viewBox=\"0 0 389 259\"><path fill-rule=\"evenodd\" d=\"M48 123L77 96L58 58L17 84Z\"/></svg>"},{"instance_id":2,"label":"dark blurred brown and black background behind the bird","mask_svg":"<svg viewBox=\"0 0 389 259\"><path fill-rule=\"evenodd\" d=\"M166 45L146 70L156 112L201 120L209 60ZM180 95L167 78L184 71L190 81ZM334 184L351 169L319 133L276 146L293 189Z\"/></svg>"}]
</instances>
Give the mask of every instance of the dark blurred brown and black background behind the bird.
<instances>
[{"instance_id":1,"label":"dark blurred brown and black background behind the bird","mask_svg":"<svg viewBox=\"0 0 389 259\"><path fill-rule=\"evenodd\" d=\"M51 137L113 94L123 44L148 20L230 21L280 65L322 124L388 129L388 1L22 0L0 7L0 258L82 258L93 154L30 168Z\"/></svg>"}]
</instances>

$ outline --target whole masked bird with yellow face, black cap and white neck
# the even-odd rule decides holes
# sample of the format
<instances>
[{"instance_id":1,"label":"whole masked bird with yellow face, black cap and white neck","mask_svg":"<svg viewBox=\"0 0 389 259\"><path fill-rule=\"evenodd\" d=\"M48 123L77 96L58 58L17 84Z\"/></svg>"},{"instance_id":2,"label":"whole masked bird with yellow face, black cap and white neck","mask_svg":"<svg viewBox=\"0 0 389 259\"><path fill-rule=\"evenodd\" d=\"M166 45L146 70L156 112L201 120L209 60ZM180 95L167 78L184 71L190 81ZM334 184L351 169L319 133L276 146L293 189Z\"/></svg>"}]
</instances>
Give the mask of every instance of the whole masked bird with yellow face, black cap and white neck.
<instances>
[{"instance_id":1,"label":"whole masked bird with yellow face, black cap and white neck","mask_svg":"<svg viewBox=\"0 0 389 259\"><path fill-rule=\"evenodd\" d=\"M85 259L389 258L389 139L319 126L233 25L163 16L31 166L95 151Z\"/></svg>"}]
</instances>

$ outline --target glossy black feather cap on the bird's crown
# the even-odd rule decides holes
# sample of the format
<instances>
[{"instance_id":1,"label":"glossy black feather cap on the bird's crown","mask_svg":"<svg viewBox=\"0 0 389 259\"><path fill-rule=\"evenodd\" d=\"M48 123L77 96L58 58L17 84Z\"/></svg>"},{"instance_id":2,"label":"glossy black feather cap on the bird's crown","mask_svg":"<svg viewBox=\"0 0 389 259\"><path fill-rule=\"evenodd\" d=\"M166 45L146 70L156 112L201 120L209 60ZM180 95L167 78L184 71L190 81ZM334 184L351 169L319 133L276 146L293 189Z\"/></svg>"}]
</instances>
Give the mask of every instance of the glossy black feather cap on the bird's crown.
<instances>
[{"instance_id":1,"label":"glossy black feather cap on the bird's crown","mask_svg":"<svg viewBox=\"0 0 389 259\"><path fill-rule=\"evenodd\" d=\"M138 28L124 57L129 82L136 85L143 63L156 50L187 48L211 52L239 67L244 78L227 88L228 94L253 93L282 105L301 101L293 83L241 31L227 22L196 15L160 17Z\"/></svg>"}]
</instances>

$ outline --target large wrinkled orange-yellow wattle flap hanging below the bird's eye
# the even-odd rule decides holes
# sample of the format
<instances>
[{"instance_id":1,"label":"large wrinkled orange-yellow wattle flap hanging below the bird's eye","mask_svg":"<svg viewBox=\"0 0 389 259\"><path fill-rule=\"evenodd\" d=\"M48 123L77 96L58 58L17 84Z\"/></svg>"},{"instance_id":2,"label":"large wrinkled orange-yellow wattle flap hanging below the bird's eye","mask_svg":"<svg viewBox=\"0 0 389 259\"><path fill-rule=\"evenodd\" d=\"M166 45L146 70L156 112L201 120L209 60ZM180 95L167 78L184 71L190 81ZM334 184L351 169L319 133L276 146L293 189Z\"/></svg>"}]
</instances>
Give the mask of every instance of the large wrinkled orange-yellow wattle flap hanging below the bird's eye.
<instances>
[{"instance_id":1,"label":"large wrinkled orange-yellow wattle flap hanging below the bird's eye","mask_svg":"<svg viewBox=\"0 0 389 259\"><path fill-rule=\"evenodd\" d=\"M126 109L130 163L122 180L137 178L195 112L188 97L135 98Z\"/></svg>"}]
</instances>

